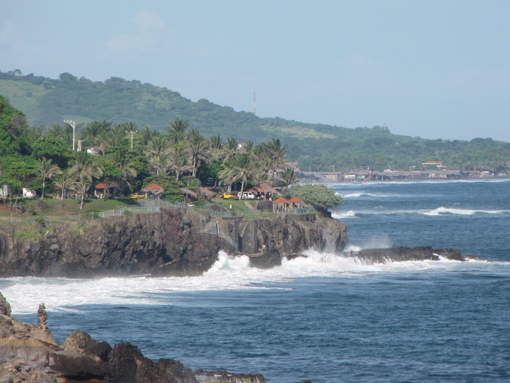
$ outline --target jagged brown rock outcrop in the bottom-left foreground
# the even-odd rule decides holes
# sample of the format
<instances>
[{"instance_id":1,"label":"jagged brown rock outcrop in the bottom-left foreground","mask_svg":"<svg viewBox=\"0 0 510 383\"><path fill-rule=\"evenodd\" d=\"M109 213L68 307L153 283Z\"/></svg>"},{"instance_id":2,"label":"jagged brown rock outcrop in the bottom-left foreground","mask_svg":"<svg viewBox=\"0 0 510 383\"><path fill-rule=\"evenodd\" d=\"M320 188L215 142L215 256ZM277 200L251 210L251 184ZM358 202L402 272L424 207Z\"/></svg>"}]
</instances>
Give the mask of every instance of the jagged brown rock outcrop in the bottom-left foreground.
<instances>
[{"instance_id":1,"label":"jagged brown rock outcrop in the bottom-left foreground","mask_svg":"<svg viewBox=\"0 0 510 383\"><path fill-rule=\"evenodd\" d=\"M265 383L261 374L232 374L199 370L181 362L153 362L130 343L113 348L75 330L59 346L46 325L44 304L37 325L10 317L11 308L0 293L0 382L9 383Z\"/></svg>"}]
</instances>

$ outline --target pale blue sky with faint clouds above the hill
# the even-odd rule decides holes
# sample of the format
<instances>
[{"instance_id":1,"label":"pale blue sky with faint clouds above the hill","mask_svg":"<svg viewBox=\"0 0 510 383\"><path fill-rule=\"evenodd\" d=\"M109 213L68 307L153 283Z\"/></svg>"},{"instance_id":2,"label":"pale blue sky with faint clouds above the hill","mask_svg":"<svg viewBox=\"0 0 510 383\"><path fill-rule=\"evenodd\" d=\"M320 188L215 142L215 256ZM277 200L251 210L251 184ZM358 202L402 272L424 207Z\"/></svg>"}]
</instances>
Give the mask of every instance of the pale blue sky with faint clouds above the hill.
<instances>
[{"instance_id":1,"label":"pale blue sky with faint clouds above the hill","mask_svg":"<svg viewBox=\"0 0 510 383\"><path fill-rule=\"evenodd\" d=\"M510 2L17 0L0 70L167 87L240 111L510 141Z\"/></svg>"}]
</instances>

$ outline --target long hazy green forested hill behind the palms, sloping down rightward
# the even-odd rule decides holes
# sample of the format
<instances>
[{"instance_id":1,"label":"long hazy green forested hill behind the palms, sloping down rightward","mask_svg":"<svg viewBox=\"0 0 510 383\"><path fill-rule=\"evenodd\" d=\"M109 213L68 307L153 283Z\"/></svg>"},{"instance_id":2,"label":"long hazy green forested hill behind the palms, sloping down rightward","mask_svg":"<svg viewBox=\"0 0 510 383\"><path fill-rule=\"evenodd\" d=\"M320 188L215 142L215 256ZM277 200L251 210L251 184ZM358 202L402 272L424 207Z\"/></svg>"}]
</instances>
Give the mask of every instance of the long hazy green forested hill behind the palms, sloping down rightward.
<instances>
[{"instance_id":1,"label":"long hazy green forested hill behind the palms, sloping down rightward","mask_svg":"<svg viewBox=\"0 0 510 383\"><path fill-rule=\"evenodd\" d=\"M289 146L288 159L298 161L302 170L363 165L374 170L407 170L425 160L442 161L452 169L502 170L510 159L510 143L490 138L426 140L394 135L381 127L348 129L260 118L205 99L192 102L167 88L118 77L93 82L69 73L49 79L23 76L19 70L0 71L0 94L27 115L32 126L47 128L62 124L64 119L78 124L105 119L113 124L133 122L139 128L163 130L179 116L205 136L232 136L255 143L279 137Z\"/></svg>"}]
</instances>

